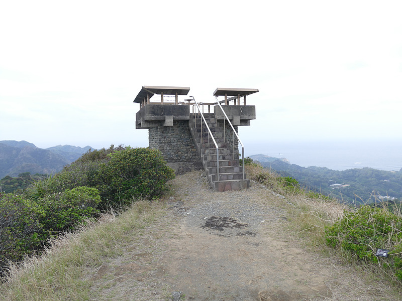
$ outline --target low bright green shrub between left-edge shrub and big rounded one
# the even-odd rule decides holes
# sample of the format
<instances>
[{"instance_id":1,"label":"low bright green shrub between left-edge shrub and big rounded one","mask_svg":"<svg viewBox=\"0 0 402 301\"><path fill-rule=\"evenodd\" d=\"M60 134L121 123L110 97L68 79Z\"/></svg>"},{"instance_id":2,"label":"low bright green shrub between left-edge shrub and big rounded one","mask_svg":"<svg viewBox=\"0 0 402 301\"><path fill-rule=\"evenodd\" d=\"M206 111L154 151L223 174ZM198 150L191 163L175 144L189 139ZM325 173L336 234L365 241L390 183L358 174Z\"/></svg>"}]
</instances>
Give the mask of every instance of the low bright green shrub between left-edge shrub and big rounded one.
<instances>
[{"instance_id":1,"label":"low bright green shrub between left-edge shrub and big rounded one","mask_svg":"<svg viewBox=\"0 0 402 301\"><path fill-rule=\"evenodd\" d=\"M40 220L44 229L52 235L73 231L85 219L95 217L99 210L99 191L95 188L76 187L62 193L53 193L38 201L45 216Z\"/></svg>"}]
</instances>

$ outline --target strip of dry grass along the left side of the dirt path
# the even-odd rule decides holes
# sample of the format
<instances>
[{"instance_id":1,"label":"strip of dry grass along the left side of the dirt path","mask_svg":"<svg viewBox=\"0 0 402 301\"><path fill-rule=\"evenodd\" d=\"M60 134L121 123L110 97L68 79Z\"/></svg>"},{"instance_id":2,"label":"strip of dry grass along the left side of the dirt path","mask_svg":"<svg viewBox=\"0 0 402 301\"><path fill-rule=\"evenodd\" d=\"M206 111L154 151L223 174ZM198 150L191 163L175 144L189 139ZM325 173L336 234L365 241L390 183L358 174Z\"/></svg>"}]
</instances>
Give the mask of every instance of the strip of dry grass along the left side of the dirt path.
<instances>
[{"instance_id":1,"label":"strip of dry grass along the left side of the dirt path","mask_svg":"<svg viewBox=\"0 0 402 301\"><path fill-rule=\"evenodd\" d=\"M89 299L91 281L84 270L121 255L129 234L151 224L162 208L155 202L137 202L119 218L110 213L77 233L60 236L41 257L11 267L9 281L0 286L0 300Z\"/></svg>"}]
</instances>

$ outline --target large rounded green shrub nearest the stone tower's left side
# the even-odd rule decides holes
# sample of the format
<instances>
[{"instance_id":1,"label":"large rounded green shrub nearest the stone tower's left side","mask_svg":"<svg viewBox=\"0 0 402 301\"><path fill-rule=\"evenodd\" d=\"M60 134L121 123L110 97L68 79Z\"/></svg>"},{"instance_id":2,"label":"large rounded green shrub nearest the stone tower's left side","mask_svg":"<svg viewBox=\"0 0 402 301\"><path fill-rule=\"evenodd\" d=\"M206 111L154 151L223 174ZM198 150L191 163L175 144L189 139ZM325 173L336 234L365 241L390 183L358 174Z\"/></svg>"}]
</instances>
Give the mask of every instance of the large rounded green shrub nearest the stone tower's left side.
<instances>
[{"instance_id":1,"label":"large rounded green shrub nearest the stone tower's left side","mask_svg":"<svg viewBox=\"0 0 402 301\"><path fill-rule=\"evenodd\" d=\"M174 178L174 171L157 149L126 147L108 157L100 166L97 187L114 203L158 197L168 188L166 182Z\"/></svg>"}]
</instances>

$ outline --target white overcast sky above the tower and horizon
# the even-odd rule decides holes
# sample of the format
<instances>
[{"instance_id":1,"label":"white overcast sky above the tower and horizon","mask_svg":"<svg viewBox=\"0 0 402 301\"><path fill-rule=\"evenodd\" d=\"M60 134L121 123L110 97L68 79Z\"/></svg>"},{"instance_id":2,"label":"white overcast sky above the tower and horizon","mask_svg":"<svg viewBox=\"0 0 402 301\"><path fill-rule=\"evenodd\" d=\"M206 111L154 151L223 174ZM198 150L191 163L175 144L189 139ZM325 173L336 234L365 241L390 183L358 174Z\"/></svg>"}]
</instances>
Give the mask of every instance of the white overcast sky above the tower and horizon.
<instances>
[{"instance_id":1,"label":"white overcast sky above the tower and horizon","mask_svg":"<svg viewBox=\"0 0 402 301\"><path fill-rule=\"evenodd\" d=\"M257 88L247 142L402 139L400 1L2 1L0 140L147 146L143 85ZM154 97L158 97L157 95Z\"/></svg>"}]
</instances>

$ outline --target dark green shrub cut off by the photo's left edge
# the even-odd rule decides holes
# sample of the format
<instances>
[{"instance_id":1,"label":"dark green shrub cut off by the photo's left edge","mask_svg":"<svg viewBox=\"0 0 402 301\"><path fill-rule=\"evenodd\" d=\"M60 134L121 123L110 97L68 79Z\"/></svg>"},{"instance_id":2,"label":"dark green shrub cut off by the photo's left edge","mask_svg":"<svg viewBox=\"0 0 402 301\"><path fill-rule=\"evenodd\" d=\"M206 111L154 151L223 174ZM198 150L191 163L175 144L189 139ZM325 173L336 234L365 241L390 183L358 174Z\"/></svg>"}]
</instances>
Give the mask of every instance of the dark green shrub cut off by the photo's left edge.
<instances>
[{"instance_id":1,"label":"dark green shrub cut off by the photo's left edge","mask_svg":"<svg viewBox=\"0 0 402 301\"><path fill-rule=\"evenodd\" d=\"M30 200L0 193L0 277L7 261L19 261L40 247L44 232L39 220L45 213Z\"/></svg>"}]
</instances>

